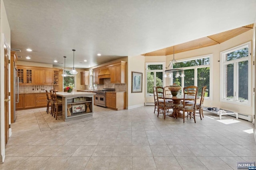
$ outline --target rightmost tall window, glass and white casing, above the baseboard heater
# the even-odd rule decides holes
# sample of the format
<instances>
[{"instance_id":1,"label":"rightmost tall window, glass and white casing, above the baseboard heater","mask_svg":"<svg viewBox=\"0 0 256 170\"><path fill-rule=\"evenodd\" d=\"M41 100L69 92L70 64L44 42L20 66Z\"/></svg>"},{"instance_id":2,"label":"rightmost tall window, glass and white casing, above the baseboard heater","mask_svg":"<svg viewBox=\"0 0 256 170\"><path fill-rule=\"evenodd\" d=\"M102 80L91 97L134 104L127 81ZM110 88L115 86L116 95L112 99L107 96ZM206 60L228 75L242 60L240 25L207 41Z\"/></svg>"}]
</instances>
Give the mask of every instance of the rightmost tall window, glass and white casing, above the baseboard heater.
<instances>
[{"instance_id":1,"label":"rightmost tall window, glass and white casing, above the baseboard heater","mask_svg":"<svg viewBox=\"0 0 256 170\"><path fill-rule=\"evenodd\" d=\"M220 52L220 101L251 105L251 42Z\"/></svg>"}]
</instances>

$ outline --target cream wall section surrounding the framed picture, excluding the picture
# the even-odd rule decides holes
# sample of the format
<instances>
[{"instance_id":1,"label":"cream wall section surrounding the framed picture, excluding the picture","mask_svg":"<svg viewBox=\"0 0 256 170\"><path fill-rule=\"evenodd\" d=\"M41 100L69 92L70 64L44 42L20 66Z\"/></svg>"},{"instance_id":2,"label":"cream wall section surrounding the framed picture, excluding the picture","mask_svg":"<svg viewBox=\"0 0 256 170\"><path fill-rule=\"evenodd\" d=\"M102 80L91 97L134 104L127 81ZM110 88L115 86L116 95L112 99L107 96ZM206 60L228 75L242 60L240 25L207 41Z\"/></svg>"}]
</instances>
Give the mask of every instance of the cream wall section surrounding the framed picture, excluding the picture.
<instances>
[{"instance_id":1,"label":"cream wall section surrounding the framed picture, excluding the picture","mask_svg":"<svg viewBox=\"0 0 256 170\"><path fill-rule=\"evenodd\" d=\"M142 72L142 93L132 93L132 71ZM140 106L144 106L145 101L145 57L134 56L128 57L128 105L126 109L132 109ZM127 82L127 81L126 81ZM127 107L128 106L128 107Z\"/></svg>"}]
</instances>

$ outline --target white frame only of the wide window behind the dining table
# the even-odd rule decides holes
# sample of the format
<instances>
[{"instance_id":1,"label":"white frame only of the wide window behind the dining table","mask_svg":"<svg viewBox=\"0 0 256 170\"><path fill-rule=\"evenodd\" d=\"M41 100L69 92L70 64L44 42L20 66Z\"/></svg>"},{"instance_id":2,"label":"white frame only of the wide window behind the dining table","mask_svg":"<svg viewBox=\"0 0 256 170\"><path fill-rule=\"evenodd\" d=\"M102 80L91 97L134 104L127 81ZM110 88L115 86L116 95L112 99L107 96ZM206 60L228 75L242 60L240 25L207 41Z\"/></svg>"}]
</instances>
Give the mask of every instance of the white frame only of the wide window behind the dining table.
<instances>
[{"instance_id":1,"label":"white frame only of the wide window behind the dining table","mask_svg":"<svg viewBox=\"0 0 256 170\"><path fill-rule=\"evenodd\" d=\"M208 54L208 55L201 55L201 56L197 56L197 57L190 57L190 58L186 58L186 59L180 59L180 60L176 60L177 63L180 63L180 62L184 62L184 61L192 61L192 60L197 60L197 59L204 59L204 58L209 58L210 60L210 64L207 64L207 65L200 65L200 66L189 66L189 67L182 67L183 70L189 70L189 69L194 69L194 85L197 86L197 68L204 68L204 67L210 67L210 87L207 87L209 88L210 90L208 91L209 93L209 97L205 97L204 99L206 100L213 100L213 54ZM182 77L181 78L181 87L182 89L184 88L184 78L186 78L186 75L185 77ZM170 84L173 84L175 80L173 80L172 78L170 78ZM198 89L198 90L202 90L202 89ZM182 91L182 94L183 94L183 91ZM199 96L201 97L201 96Z\"/></svg>"}]
</instances>

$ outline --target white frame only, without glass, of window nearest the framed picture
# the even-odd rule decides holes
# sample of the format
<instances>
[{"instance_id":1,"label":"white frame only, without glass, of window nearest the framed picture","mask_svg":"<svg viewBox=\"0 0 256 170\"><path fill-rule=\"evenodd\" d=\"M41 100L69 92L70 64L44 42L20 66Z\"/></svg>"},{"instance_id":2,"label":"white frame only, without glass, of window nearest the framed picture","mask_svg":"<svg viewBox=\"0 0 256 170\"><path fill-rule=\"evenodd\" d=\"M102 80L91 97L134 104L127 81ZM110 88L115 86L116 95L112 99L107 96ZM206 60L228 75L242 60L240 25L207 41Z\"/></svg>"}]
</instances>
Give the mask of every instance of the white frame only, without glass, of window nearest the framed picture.
<instances>
[{"instance_id":1,"label":"white frame only, without glass, of window nearest the framed picture","mask_svg":"<svg viewBox=\"0 0 256 170\"><path fill-rule=\"evenodd\" d=\"M149 65L158 65L158 64L162 64L163 65L163 69L162 70L148 70L148 64ZM146 70L146 75L145 75L145 77L146 77L146 80L145 80L145 89L146 89L146 91L145 91L145 97L149 97L148 96L148 77L147 77L147 75L148 75L148 72L154 72L154 86L156 86L156 72L162 72L163 73L163 76L164 76L164 68L165 68L165 63L163 63L163 62L150 62L150 63L145 63L145 70ZM165 85L165 78L163 77L163 87L164 87L164 85Z\"/></svg>"}]
</instances>

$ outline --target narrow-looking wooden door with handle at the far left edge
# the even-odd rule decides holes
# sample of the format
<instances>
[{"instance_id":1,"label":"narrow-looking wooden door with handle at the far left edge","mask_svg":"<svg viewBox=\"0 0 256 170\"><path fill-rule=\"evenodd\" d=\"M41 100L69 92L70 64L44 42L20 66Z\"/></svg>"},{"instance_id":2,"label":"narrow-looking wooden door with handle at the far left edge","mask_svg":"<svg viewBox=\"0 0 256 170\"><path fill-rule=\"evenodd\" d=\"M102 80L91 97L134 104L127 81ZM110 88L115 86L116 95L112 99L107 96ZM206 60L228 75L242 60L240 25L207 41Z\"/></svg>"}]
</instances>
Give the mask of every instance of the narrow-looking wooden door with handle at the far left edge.
<instances>
[{"instance_id":1,"label":"narrow-looking wooden door with handle at the far left edge","mask_svg":"<svg viewBox=\"0 0 256 170\"><path fill-rule=\"evenodd\" d=\"M8 51L4 48L4 127L5 127L5 144L9 139L9 67Z\"/></svg>"}]
</instances>

